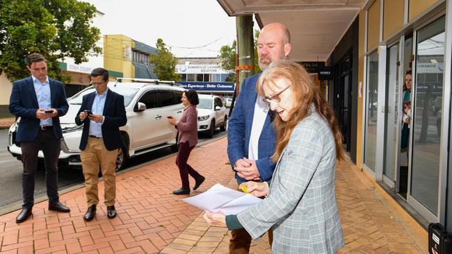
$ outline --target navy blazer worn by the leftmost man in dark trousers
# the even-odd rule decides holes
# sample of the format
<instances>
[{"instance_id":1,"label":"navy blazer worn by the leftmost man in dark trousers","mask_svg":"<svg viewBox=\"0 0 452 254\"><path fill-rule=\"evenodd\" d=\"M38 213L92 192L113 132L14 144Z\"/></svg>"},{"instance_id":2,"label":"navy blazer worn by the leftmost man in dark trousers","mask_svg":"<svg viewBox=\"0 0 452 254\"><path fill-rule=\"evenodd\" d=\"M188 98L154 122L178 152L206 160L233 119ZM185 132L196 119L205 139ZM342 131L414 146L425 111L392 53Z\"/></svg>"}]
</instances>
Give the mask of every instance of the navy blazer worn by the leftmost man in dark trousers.
<instances>
[{"instance_id":1,"label":"navy blazer worn by the leftmost man in dark trousers","mask_svg":"<svg viewBox=\"0 0 452 254\"><path fill-rule=\"evenodd\" d=\"M58 111L58 116L52 118L54 134L57 139L63 138L60 126L60 117L66 115L69 105L66 101L63 83L49 78L51 107ZM39 108L38 97L36 97L33 78L23 78L13 83L10 96L9 110L11 114L20 117L17 129L17 142L31 142L38 137L40 119L36 118Z\"/></svg>"}]
</instances>

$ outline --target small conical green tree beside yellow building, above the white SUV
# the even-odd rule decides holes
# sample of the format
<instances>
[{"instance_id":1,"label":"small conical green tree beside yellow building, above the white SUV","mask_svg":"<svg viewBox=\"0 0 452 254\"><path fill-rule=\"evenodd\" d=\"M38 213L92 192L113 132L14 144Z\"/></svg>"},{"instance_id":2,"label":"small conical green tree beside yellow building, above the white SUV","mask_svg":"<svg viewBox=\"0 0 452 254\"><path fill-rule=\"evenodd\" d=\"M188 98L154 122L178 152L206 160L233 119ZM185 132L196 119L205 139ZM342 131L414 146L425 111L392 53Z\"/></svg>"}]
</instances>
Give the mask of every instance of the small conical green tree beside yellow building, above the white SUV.
<instances>
[{"instance_id":1,"label":"small conical green tree beside yellow building, above the white SUV","mask_svg":"<svg viewBox=\"0 0 452 254\"><path fill-rule=\"evenodd\" d=\"M177 58L170 50L163 40L157 39L156 54L150 56L150 63L160 80L180 81L182 76L176 73Z\"/></svg>"}]
</instances>

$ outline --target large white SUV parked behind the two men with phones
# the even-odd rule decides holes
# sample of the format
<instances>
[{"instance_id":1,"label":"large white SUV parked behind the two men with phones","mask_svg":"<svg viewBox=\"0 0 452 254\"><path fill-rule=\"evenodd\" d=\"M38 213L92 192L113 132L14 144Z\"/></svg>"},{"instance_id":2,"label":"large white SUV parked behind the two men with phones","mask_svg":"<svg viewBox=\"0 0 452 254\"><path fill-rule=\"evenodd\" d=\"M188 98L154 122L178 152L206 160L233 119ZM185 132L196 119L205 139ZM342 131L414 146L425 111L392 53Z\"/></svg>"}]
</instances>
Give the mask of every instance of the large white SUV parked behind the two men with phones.
<instances>
[{"instance_id":1,"label":"large white SUV parked behind the two men with phones","mask_svg":"<svg viewBox=\"0 0 452 254\"><path fill-rule=\"evenodd\" d=\"M118 153L116 169L122 169L127 158L143 153L171 147L177 150L177 130L168 124L166 117L179 119L184 110L181 97L184 89L173 81L147 80L140 78L118 78L110 81L108 89L124 96L127 124L120 128L124 146ZM75 115L79 111L83 95L94 92L90 86L70 99L67 114L60 117L63 139L61 139L60 162L80 163L80 139L83 125L75 124ZM17 121L10 127L8 151L21 160L20 144L15 142ZM39 158L44 158L42 151Z\"/></svg>"}]
</instances>

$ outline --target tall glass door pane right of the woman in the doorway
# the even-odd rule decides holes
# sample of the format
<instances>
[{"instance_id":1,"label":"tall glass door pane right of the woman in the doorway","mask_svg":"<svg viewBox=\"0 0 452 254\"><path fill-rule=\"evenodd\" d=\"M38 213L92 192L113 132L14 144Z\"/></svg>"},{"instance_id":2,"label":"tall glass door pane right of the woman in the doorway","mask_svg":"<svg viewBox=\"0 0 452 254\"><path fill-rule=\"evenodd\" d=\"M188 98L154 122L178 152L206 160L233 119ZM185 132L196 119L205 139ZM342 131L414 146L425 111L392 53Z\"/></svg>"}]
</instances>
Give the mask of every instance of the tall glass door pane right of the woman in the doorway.
<instances>
[{"instance_id":1,"label":"tall glass door pane right of the woman in the doorway","mask_svg":"<svg viewBox=\"0 0 452 254\"><path fill-rule=\"evenodd\" d=\"M410 126L412 163L408 202L417 201L434 216L438 213L444 22L444 17L439 18L417 33L416 78L411 102L414 112Z\"/></svg>"}]
</instances>

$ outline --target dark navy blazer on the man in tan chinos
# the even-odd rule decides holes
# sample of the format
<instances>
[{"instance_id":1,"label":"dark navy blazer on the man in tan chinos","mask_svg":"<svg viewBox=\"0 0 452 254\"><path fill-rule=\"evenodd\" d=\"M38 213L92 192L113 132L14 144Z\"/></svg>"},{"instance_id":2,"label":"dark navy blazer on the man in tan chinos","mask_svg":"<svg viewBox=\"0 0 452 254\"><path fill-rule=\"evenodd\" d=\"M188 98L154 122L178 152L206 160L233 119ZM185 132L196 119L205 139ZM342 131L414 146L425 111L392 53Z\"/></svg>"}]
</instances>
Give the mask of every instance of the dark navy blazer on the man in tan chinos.
<instances>
[{"instance_id":1,"label":"dark navy blazer on the man in tan chinos","mask_svg":"<svg viewBox=\"0 0 452 254\"><path fill-rule=\"evenodd\" d=\"M75 116L75 123L83 125L83 133L81 133L80 150L85 150L88 144L88 135L90 134L90 119L80 120L80 112L83 110L91 110L96 92L83 96L81 107ZM108 90L104 105L104 124L102 124L102 140L108 151L119 149L122 146L122 138L120 127L127 124L126 109L124 107L124 96Z\"/></svg>"}]
</instances>

